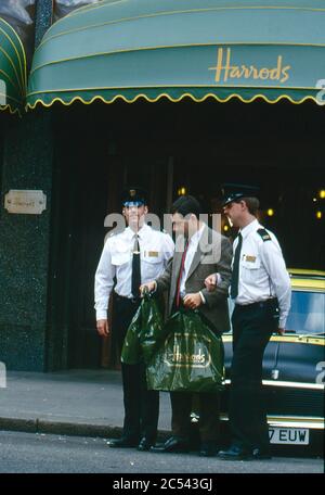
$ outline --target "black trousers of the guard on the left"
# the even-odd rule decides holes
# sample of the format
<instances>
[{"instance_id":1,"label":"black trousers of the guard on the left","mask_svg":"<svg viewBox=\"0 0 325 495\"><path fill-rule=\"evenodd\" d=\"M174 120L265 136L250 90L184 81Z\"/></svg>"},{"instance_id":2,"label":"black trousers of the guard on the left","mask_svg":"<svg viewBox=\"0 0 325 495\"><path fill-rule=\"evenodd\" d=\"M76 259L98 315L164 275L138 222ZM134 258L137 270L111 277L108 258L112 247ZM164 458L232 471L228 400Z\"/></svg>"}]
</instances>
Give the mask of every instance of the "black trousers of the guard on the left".
<instances>
[{"instance_id":1,"label":"black trousers of the guard on the left","mask_svg":"<svg viewBox=\"0 0 325 495\"><path fill-rule=\"evenodd\" d=\"M117 334L119 353L139 305L140 301L132 302L115 294L113 331ZM154 443L158 427L159 392L147 390L143 364L125 365L122 363L121 373L125 404L123 436L132 440L146 436Z\"/></svg>"}]
</instances>

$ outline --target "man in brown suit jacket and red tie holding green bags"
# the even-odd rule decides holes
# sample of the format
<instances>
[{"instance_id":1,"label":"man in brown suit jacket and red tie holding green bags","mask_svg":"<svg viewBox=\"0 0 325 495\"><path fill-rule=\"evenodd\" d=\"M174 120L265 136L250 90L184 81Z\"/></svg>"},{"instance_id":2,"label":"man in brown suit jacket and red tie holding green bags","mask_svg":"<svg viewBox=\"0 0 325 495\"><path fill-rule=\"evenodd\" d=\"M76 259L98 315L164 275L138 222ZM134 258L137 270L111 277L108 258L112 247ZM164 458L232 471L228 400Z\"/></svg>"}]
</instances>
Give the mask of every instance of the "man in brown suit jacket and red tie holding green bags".
<instances>
[{"instance_id":1,"label":"man in brown suit jacket and red tie holding green bags","mask_svg":"<svg viewBox=\"0 0 325 495\"><path fill-rule=\"evenodd\" d=\"M181 305L199 308L216 332L222 333L230 329L227 291L232 246L225 237L199 220L202 213L200 204L193 196L184 195L173 203L171 215L177 236L174 256L165 272L145 287L158 293L169 291L169 315ZM213 292L205 287L205 279L211 268L220 277ZM171 392L170 397L172 436L162 447L152 447L152 452L188 452L193 394ZM218 393L199 394L199 409L200 455L213 456L219 435Z\"/></svg>"}]
</instances>

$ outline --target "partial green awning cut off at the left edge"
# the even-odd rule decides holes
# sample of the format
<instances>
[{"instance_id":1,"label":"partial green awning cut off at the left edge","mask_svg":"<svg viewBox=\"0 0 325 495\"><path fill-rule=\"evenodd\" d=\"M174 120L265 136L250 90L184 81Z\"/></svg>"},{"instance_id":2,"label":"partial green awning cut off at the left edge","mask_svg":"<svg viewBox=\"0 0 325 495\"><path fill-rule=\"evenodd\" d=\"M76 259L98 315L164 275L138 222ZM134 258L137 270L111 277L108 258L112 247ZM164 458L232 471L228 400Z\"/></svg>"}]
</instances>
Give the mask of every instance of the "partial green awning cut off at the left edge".
<instances>
[{"instance_id":1,"label":"partial green awning cut off at the left edge","mask_svg":"<svg viewBox=\"0 0 325 495\"><path fill-rule=\"evenodd\" d=\"M0 17L0 111L20 112L26 86L25 49L14 28Z\"/></svg>"}]
</instances>

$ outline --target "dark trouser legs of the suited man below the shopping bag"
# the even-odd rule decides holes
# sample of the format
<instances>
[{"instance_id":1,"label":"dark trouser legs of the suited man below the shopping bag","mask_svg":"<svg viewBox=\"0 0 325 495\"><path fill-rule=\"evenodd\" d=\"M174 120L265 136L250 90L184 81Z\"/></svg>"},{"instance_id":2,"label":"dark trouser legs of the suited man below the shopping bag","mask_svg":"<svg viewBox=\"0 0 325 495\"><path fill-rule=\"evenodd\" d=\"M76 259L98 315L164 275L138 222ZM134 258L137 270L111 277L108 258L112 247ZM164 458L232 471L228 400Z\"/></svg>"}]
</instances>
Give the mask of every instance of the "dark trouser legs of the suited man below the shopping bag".
<instances>
[{"instance_id":1,"label":"dark trouser legs of the suited man below the shopping bag","mask_svg":"<svg viewBox=\"0 0 325 495\"><path fill-rule=\"evenodd\" d=\"M170 392L171 430L173 436L190 440L191 412L193 397L191 392ZM219 439L219 394L197 394L199 402L199 436L202 442L218 441Z\"/></svg>"}]
</instances>

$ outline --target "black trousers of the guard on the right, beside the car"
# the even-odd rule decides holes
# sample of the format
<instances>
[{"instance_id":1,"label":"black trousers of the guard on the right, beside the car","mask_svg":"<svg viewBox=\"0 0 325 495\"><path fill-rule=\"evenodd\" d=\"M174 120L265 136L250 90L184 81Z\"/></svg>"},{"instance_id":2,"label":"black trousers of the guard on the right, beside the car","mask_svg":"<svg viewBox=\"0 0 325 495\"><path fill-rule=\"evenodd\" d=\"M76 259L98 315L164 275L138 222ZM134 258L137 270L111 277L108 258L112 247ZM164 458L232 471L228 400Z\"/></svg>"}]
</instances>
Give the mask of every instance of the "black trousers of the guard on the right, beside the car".
<instances>
[{"instance_id":1,"label":"black trousers of the guard on the right, beside the car","mask_svg":"<svg viewBox=\"0 0 325 495\"><path fill-rule=\"evenodd\" d=\"M235 306L231 367L230 421L233 444L248 450L269 448L263 401L262 360L278 325L277 302Z\"/></svg>"}]
</instances>

